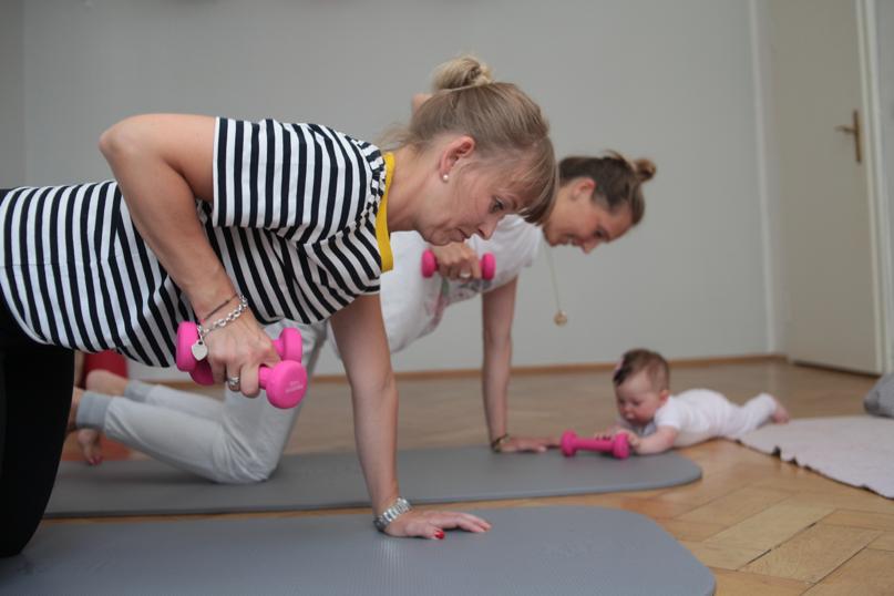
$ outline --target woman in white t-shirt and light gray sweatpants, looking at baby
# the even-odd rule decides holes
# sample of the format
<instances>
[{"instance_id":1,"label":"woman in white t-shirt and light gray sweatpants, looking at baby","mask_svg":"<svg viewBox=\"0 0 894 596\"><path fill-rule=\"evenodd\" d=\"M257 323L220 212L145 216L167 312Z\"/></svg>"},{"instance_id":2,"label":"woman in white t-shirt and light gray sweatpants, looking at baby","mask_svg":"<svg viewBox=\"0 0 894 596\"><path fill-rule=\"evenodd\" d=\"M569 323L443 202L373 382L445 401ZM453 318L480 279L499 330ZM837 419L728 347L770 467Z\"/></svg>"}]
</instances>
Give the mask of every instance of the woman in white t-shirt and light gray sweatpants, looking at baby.
<instances>
[{"instance_id":1,"label":"woman in white t-shirt and light gray sweatpants, looking at baby","mask_svg":"<svg viewBox=\"0 0 894 596\"><path fill-rule=\"evenodd\" d=\"M559 164L556 204L543 228L517 216L497 224L489 239L471 238L431 247L414 232L391 235L394 268L381 278L381 308L390 350L397 352L432 332L444 309L482 296L484 325L483 398L491 449L544 451L554 438L511 435L507 390L512 359L512 319L517 279L545 238L589 253L624 235L644 214L640 185L655 173L647 160L630 163L618 154L568 157ZM439 273L422 277L422 254L438 255ZM479 256L492 253L493 279L481 276ZM276 336L281 323L268 328ZM325 323L299 326L304 362L312 371L328 336ZM267 479L279 463L298 409L282 411L266 399L246 400L227 391L224 402L161 386L127 381L105 371L88 377L89 391L124 395L97 417L84 415L79 433L84 459L100 463L99 432L172 465L216 482L249 483ZM312 384L310 388L312 394ZM307 398L306 398L307 399Z\"/></svg>"}]
</instances>

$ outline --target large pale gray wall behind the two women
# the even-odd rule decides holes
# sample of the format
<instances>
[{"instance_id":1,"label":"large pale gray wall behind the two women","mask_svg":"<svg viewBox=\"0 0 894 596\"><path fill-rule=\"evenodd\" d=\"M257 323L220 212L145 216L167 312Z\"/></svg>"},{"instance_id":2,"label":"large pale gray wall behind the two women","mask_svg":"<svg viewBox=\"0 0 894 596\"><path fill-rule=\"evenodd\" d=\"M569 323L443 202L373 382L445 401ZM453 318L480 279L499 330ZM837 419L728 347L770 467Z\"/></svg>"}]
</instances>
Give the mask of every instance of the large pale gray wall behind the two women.
<instances>
[{"instance_id":1,"label":"large pale gray wall behind the two women","mask_svg":"<svg viewBox=\"0 0 894 596\"><path fill-rule=\"evenodd\" d=\"M27 182L109 175L101 131L145 111L317 121L374 140L462 51L521 84L559 155L646 155L644 223L521 280L516 364L775 349L768 332L750 6L738 0L44 0L24 6ZM6 141L0 141L6 143ZM765 210L765 209L764 209ZM476 367L480 302L454 307L398 370ZM340 367L322 359L319 371Z\"/></svg>"}]
</instances>

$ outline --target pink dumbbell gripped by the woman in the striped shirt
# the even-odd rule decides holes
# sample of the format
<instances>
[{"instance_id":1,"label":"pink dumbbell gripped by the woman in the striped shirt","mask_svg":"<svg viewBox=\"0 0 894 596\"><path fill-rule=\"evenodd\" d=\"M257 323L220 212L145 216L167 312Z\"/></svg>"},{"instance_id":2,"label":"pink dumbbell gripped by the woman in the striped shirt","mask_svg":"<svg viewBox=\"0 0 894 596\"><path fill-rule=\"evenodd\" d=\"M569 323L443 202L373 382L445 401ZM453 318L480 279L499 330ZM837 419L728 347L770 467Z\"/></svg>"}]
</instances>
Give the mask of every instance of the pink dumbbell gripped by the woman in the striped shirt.
<instances>
[{"instance_id":1,"label":"pink dumbbell gripped by the woman in the striped shirt","mask_svg":"<svg viewBox=\"0 0 894 596\"><path fill-rule=\"evenodd\" d=\"M177 327L177 368L188 372L198 384L214 384L212 367L207 360L196 360L193 346L198 341L196 323L183 321ZM301 364L301 333L286 328L274 340L276 353L282 359L275 367L258 368L258 382L267 391L271 405L288 409L298 405L307 391L307 371Z\"/></svg>"}]
</instances>

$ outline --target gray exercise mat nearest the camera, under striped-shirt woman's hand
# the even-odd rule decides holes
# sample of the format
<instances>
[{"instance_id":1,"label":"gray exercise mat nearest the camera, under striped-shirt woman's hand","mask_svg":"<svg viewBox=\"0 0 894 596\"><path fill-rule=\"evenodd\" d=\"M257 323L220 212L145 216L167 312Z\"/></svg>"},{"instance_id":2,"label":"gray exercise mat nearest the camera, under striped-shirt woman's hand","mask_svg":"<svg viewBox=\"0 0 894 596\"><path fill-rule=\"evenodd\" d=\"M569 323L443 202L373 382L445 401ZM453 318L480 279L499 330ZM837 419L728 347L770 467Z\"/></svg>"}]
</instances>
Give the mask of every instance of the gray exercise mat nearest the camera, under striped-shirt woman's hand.
<instances>
[{"instance_id":1,"label":"gray exercise mat nearest the camera, under striped-shirt woman's hand","mask_svg":"<svg viewBox=\"0 0 894 596\"><path fill-rule=\"evenodd\" d=\"M712 594L655 522L602 507L475 512L485 534L390 538L368 515L43 525L0 594Z\"/></svg>"}]
</instances>

